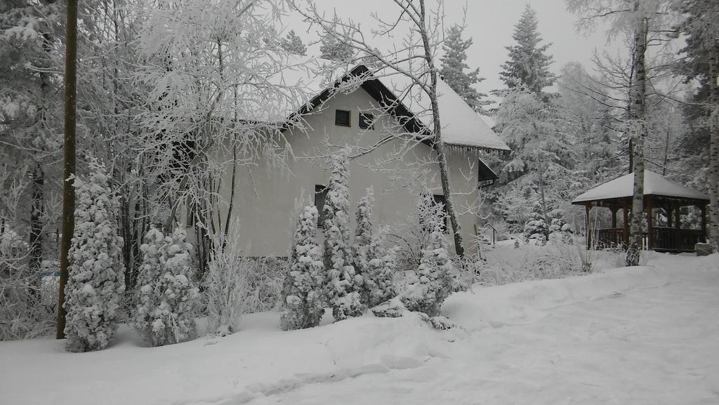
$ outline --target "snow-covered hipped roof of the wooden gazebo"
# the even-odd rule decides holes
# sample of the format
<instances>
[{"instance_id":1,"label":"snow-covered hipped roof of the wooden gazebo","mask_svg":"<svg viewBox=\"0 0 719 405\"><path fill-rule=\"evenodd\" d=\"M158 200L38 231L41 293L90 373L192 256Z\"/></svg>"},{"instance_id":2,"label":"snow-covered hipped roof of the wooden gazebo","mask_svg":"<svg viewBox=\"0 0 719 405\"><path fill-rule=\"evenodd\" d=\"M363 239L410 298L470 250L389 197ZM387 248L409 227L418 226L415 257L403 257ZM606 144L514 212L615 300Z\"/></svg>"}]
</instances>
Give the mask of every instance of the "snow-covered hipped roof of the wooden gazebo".
<instances>
[{"instance_id":1,"label":"snow-covered hipped roof of the wooden gazebo","mask_svg":"<svg viewBox=\"0 0 719 405\"><path fill-rule=\"evenodd\" d=\"M580 196L572 200L572 204L631 197L634 194L633 190L634 173L629 173L580 194ZM709 196L706 194L679 184L676 181L668 180L664 178L664 176L650 170L644 170L644 195L709 201Z\"/></svg>"}]
</instances>

